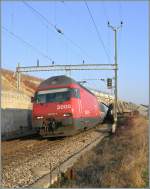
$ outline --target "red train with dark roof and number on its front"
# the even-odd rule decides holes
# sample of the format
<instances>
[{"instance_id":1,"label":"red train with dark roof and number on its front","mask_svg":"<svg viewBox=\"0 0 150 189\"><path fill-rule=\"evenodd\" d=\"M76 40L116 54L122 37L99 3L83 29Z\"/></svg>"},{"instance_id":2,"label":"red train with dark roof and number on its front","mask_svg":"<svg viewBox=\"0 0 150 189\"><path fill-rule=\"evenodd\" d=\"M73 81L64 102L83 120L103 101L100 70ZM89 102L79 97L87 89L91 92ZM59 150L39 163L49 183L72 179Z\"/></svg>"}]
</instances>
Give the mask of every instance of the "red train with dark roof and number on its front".
<instances>
[{"instance_id":1,"label":"red train with dark roof and number on its front","mask_svg":"<svg viewBox=\"0 0 150 189\"><path fill-rule=\"evenodd\" d=\"M97 97L65 75L42 81L31 102L32 127L43 137L72 136L102 123L106 116Z\"/></svg>"}]
</instances>

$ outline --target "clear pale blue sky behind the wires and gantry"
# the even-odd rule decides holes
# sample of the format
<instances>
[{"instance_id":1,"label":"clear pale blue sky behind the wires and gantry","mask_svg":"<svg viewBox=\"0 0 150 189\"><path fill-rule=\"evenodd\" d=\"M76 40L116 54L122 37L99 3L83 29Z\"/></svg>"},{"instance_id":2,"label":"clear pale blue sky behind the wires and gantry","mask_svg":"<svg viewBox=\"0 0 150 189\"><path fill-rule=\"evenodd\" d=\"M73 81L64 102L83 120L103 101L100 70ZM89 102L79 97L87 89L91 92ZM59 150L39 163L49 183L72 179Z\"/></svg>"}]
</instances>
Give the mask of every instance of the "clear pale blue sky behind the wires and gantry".
<instances>
[{"instance_id":1,"label":"clear pale blue sky behind the wires and gantry","mask_svg":"<svg viewBox=\"0 0 150 189\"><path fill-rule=\"evenodd\" d=\"M28 1L49 24L22 1L3 2L2 67L15 70L18 62L31 66L37 59L40 65L49 65L51 60L55 64L114 63L114 33L107 21L115 26L123 21L118 32L118 94L123 100L148 104L148 1L87 3L105 50L84 1ZM55 25L64 35L56 32ZM30 74L48 78L62 72ZM108 78L113 71L80 71L71 76L77 80ZM110 92L102 81L87 85Z\"/></svg>"}]
</instances>

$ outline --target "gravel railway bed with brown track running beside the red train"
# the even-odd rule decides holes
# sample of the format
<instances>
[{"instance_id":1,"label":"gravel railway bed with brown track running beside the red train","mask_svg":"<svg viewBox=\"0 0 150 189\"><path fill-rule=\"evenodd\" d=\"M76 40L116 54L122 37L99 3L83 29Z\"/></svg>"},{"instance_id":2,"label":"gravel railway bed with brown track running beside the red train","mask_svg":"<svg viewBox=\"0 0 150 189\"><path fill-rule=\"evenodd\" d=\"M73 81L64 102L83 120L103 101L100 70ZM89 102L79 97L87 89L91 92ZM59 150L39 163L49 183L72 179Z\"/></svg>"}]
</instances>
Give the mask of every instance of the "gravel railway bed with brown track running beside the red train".
<instances>
[{"instance_id":1,"label":"gravel railway bed with brown track running beside the red train","mask_svg":"<svg viewBox=\"0 0 150 189\"><path fill-rule=\"evenodd\" d=\"M102 128L102 126L99 126ZM2 186L27 187L40 177L36 170L52 169L96 138L102 136L95 129L59 140L21 138L2 142Z\"/></svg>"}]
</instances>

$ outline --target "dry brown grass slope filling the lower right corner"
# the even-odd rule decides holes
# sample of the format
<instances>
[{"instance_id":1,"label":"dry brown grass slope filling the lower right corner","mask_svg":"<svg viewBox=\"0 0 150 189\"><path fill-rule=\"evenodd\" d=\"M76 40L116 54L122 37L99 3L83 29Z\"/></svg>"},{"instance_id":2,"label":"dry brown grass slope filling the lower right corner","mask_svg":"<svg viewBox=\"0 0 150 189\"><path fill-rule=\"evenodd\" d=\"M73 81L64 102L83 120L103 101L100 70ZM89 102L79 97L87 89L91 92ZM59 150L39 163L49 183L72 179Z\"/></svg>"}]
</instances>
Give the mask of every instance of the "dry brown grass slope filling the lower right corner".
<instances>
[{"instance_id":1,"label":"dry brown grass slope filling the lower right corner","mask_svg":"<svg viewBox=\"0 0 150 189\"><path fill-rule=\"evenodd\" d=\"M117 133L81 157L64 187L148 187L148 122L126 120Z\"/></svg>"}]
</instances>

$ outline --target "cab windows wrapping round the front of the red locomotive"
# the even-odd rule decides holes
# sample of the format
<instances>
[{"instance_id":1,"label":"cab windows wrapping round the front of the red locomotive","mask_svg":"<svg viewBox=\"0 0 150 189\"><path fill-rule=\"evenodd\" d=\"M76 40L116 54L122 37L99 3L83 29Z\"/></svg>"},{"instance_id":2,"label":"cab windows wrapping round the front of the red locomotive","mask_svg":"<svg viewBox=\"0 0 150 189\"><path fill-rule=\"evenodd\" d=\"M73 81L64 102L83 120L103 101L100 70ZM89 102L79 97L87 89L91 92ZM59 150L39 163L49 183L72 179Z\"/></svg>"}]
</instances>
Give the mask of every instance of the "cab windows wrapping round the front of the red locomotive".
<instances>
[{"instance_id":1,"label":"cab windows wrapping round the front of the red locomotive","mask_svg":"<svg viewBox=\"0 0 150 189\"><path fill-rule=\"evenodd\" d=\"M35 102L64 102L70 100L71 97L80 98L79 89L59 88L39 91L35 94Z\"/></svg>"}]
</instances>

